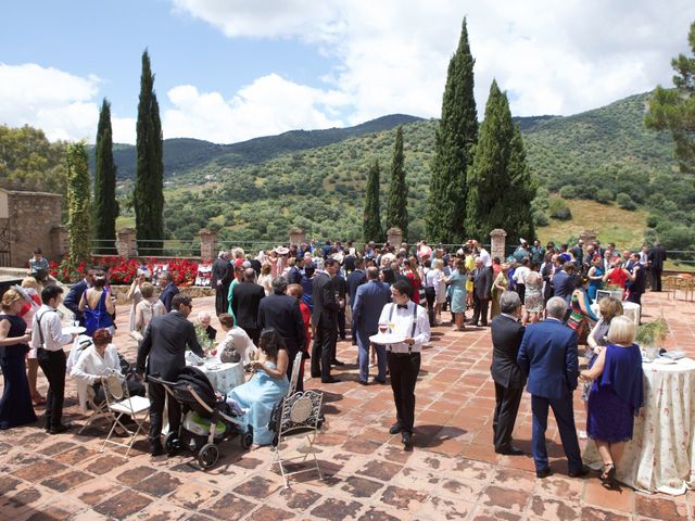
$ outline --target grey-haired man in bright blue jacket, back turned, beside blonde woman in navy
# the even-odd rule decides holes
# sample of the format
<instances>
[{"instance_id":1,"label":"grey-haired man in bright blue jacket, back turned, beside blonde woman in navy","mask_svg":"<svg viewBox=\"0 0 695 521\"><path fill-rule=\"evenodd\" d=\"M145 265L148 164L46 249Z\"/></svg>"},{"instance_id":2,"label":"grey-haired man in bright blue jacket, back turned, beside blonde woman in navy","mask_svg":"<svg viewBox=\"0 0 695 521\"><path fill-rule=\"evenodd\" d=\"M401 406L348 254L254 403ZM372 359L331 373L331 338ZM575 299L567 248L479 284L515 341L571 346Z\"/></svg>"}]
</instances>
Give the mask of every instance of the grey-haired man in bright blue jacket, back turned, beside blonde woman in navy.
<instances>
[{"instance_id":1,"label":"grey-haired man in bright blue jacket, back turned, beside blonde woman in navy","mask_svg":"<svg viewBox=\"0 0 695 521\"><path fill-rule=\"evenodd\" d=\"M518 366L529 379L527 391L531 393L533 414L531 452L539 478L552 473L545 447L548 407L553 409L560 431L569 475L580 478L589 473L589 469L582 465L574 428L572 393L577 389L579 363L577 333L563 323L566 309L561 297L554 296L547 301L547 319L527 328L517 356Z\"/></svg>"}]
</instances>

